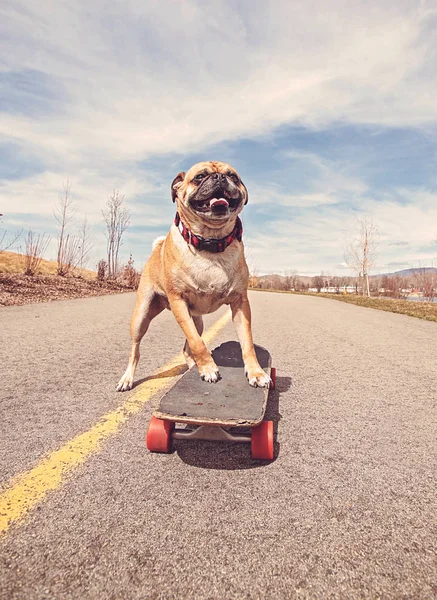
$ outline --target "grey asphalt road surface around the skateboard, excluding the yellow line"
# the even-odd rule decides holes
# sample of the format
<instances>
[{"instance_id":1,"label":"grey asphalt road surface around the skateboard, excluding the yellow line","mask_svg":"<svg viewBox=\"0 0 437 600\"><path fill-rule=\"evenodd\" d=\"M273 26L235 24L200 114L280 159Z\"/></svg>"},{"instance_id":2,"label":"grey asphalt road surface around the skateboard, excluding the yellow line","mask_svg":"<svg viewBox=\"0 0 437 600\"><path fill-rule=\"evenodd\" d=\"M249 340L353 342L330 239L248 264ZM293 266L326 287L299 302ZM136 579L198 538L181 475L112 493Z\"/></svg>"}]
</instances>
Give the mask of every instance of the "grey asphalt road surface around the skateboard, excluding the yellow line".
<instances>
[{"instance_id":1,"label":"grey asphalt road surface around the skateboard, excluding the yellow line","mask_svg":"<svg viewBox=\"0 0 437 600\"><path fill-rule=\"evenodd\" d=\"M149 454L152 398L5 534L2 599L437 597L437 324L313 297L251 299L256 341L278 368L276 459L205 442ZM133 303L0 310L6 487L128 398L114 386ZM228 339L231 324L215 342ZM161 315L137 378L181 345Z\"/></svg>"}]
</instances>

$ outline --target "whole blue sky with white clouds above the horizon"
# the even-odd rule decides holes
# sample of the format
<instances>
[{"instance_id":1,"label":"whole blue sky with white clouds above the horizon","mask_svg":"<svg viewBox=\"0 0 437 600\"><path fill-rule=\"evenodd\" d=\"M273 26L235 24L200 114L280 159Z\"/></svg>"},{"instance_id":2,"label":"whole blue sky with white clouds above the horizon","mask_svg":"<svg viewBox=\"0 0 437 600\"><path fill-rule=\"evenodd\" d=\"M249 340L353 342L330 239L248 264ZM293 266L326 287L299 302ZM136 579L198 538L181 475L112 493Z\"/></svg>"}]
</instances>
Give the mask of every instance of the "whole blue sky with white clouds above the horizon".
<instances>
[{"instance_id":1,"label":"whole blue sky with white clouds above the horizon","mask_svg":"<svg viewBox=\"0 0 437 600\"><path fill-rule=\"evenodd\" d=\"M0 230L45 232L55 257L69 182L95 268L116 189L141 268L173 178L221 160L258 274L352 274L366 217L374 273L435 266L436 30L434 0L0 0Z\"/></svg>"}]
</instances>

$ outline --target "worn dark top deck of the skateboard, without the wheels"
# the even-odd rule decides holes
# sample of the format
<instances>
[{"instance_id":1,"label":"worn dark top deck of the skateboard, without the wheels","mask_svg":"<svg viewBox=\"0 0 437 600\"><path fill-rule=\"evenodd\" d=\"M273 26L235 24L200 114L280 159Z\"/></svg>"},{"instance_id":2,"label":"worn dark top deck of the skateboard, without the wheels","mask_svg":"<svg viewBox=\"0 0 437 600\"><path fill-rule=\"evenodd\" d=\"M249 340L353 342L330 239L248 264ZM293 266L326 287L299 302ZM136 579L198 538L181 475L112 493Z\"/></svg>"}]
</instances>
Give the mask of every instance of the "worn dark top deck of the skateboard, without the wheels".
<instances>
[{"instance_id":1,"label":"worn dark top deck of the skateboard, without the wheels","mask_svg":"<svg viewBox=\"0 0 437 600\"><path fill-rule=\"evenodd\" d=\"M255 346L261 367L271 374L269 352ZM255 427L264 417L269 388L249 385L238 342L226 342L212 351L221 379L206 383L194 367L162 397L154 417L175 423Z\"/></svg>"}]
</instances>

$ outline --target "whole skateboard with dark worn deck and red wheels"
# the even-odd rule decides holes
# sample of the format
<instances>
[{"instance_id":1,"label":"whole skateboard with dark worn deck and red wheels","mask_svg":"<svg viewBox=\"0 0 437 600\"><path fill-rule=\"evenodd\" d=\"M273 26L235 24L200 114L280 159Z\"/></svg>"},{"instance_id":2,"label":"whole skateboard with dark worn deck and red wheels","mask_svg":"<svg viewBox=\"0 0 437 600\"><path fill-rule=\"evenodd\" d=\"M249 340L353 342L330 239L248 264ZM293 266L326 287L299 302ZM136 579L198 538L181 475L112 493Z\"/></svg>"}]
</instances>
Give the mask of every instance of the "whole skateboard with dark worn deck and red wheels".
<instances>
[{"instance_id":1,"label":"whole skateboard with dark worn deck and red wheels","mask_svg":"<svg viewBox=\"0 0 437 600\"><path fill-rule=\"evenodd\" d=\"M270 375L270 388L248 384L238 342L221 344L212 351L221 379L208 384L200 379L197 369L186 371L153 413L147 448L151 452L170 452L174 439L241 442L251 444L252 458L272 460L273 421L263 419L269 390L275 388L276 369L265 348L255 346L255 352Z\"/></svg>"}]
</instances>

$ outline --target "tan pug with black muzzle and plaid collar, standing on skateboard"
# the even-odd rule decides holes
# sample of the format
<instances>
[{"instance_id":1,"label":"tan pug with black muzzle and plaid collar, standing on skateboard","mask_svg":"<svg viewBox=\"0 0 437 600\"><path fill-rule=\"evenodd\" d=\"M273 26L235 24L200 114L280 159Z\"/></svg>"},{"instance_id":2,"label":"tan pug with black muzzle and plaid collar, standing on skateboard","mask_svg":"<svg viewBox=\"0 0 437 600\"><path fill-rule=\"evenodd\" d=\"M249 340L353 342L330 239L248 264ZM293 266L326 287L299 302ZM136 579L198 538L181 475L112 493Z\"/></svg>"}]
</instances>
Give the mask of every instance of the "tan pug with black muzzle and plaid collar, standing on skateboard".
<instances>
[{"instance_id":1,"label":"tan pug with black muzzle and plaid collar, standing on skateboard","mask_svg":"<svg viewBox=\"0 0 437 600\"><path fill-rule=\"evenodd\" d=\"M196 364L204 381L218 381L219 370L201 338L202 315L223 304L231 307L250 385L268 387L270 378L253 347L249 270L238 217L247 204L247 189L230 165L210 161L179 173L171 193L178 212L167 237L155 241L143 269L130 326L132 351L117 390L132 388L141 339L164 308L171 309L185 334L188 367Z\"/></svg>"}]
</instances>

